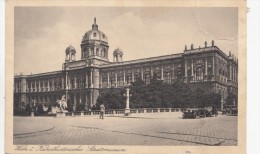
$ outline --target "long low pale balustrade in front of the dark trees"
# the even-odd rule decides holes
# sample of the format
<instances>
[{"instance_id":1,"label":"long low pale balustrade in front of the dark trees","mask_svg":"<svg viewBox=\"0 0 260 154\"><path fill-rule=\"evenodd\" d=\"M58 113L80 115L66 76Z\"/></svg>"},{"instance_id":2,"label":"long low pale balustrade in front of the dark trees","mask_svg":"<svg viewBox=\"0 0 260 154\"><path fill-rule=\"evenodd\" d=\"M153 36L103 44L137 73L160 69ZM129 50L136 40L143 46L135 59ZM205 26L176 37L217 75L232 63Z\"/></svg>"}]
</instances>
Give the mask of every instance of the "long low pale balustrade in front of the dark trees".
<instances>
[{"instance_id":1,"label":"long low pale balustrade in front of the dark trees","mask_svg":"<svg viewBox=\"0 0 260 154\"><path fill-rule=\"evenodd\" d=\"M130 109L131 114L150 114L150 113L170 113L170 112L182 112L182 108L140 108L140 109ZM111 116L122 116L124 115L125 109L109 109L105 111L105 115ZM60 114L60 113L59 113ZM75 111L62 113L63 116L97 116L100 114L100 110L93 111Z\"/></svg>"}]
</instances>

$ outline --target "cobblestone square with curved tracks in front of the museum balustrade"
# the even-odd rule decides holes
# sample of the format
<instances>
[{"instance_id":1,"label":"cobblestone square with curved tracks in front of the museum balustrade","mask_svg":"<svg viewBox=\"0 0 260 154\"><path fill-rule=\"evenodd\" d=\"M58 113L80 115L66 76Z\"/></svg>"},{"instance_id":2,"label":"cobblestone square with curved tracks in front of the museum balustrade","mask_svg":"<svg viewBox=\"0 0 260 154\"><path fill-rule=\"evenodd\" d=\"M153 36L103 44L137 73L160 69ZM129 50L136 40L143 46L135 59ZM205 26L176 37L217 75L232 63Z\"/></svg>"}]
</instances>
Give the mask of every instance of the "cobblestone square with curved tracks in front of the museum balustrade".
<instances>
[{"instance_id":1,"label":"cobblestone square with curved tracks in front of the museum balustrade","mask_svg":"<svg viewBox=\"0 0 260 154\"><path fill-rule=\"evenodd\" d=\"M237 117L226 115L182 119L181 113L151 113L104 120L98 116L15 117L14 123L14 144L237 145ZM27 124L32 133L17 133ZM52 129L35 131L37 124Z\"/></svg>"}]
</instances>

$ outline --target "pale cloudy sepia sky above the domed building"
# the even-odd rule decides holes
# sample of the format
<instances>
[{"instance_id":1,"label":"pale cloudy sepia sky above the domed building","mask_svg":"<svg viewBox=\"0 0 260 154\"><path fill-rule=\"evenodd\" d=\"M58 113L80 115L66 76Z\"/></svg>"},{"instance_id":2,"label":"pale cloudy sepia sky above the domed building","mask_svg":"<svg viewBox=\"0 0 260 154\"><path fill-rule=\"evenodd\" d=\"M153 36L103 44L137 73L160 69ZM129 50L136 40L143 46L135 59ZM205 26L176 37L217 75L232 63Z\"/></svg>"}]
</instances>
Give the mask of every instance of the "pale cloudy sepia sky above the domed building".
<instances>
[{"instance_id":1,"label":"pale cloudy sepia sky above the domed building","mask_svg":"<svg viewBox=\"0 0 260 154\"><path fill-rule=\"evenodd\" d=\"M203 47L215 41L237 56L236 8L173 7L16 7L14 71L35 74L62 69L65 49L76 49L94 18L108 37L109 60L116 48L124 61L181 53L185 44Z\"/></svg>"}]
</instances>

